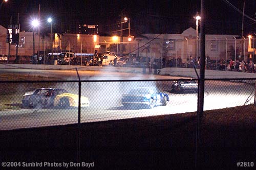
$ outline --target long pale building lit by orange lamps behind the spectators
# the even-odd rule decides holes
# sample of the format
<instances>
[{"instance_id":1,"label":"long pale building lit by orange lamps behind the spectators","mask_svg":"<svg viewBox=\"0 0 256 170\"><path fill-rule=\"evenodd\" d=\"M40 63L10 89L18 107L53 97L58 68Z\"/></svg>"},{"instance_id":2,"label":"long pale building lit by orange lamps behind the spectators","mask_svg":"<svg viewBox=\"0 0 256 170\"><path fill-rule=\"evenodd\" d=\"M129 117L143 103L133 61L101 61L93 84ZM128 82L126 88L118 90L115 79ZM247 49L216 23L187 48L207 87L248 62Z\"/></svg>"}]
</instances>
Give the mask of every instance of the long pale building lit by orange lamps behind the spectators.
<instances>
[{"instance_id":1,"label":"long pale building lit by orange lamps behind the spectators","mask_svg":"<svg viewBox=\"0 0 256 170\"><path fill-rule=\"evenodd\" d=\"M16 45L6 43L7 30L0 26L0 53L15 56ZM33 43L34 37L34 43ZM188 28L181 34L143 34L140 37L99 36L88 34L54 34L53 42L49 35L40 39L37 33L20 32L18 56L31 57L35 51L40 55L53 52L74 53L108 53L115 52L120 55L131 54L134 57L170 60L181 57L186 62L189 57L200 57L199 39L193 28ZM38 42L39 41L39 42ZM254 38L239 38L238 35L206 35L205 55L211 60L240 59L254 60ZM121 52L122 50L122 52ZM253 53L254 52L254 53Z\"/></svg>"}]
</instances>

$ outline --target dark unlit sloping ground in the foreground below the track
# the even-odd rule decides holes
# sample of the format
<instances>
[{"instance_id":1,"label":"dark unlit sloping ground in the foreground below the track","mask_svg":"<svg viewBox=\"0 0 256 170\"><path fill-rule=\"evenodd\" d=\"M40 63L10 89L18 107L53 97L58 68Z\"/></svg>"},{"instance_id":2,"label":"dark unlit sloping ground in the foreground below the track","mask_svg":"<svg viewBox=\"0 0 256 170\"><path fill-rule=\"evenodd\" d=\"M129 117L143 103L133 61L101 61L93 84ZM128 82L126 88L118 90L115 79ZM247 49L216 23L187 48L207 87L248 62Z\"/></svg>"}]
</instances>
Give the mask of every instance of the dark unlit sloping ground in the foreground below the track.
<instances>
[{"instance_id":1,"label":"dark unlit sloping ground in the foreground below the track","mask_svg":"<svg viewBox=\"0 0 256 170\"><path fill-rule=\"evenodd\" d=\"M82 124L79 159L96 169L192 169L196 123L196 113L184 113ZM0 138L1 162L77 162L77 125L1 131ZM255 168L256 107L205 111L199 145L197 167Z\"/></svg>"}]
</instances>

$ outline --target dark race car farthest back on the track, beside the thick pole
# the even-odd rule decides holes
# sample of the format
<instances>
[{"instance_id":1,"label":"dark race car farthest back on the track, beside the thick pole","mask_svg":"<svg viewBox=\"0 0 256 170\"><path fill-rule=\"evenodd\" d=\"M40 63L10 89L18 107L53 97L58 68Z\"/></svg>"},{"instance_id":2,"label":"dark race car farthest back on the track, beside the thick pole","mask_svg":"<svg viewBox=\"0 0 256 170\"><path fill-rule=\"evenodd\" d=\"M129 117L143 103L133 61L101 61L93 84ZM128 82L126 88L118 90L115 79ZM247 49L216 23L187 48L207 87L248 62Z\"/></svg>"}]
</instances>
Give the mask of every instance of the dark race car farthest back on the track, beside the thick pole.
<instances>
[{"instance_id":1,"label":"dark race car farthest back on the track, beside the thick pole","mask_svg":"<svg viewBox=\"0 0 256 170\"><path fill-rule=\"evenodd\" d=\"M174 81L172 84L173 92L197 92L198 91L198 83L194 80L181 80Z\"/></svg>"}]
</instances>

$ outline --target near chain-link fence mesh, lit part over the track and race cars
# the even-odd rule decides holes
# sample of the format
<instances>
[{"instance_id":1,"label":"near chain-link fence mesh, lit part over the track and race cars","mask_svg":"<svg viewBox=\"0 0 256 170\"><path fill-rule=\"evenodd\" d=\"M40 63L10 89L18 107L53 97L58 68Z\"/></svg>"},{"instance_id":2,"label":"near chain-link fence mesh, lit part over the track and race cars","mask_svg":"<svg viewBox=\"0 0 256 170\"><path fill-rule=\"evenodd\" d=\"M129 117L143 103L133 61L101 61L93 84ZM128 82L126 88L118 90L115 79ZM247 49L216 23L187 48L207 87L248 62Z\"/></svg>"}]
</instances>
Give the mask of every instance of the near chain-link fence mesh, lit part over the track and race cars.
<instances>
[{"instance_id":1,"label":"near chain-link fence mesh, lit part over the track and race cars","mask_svg":"<svg viewBox=\"0 0 256 170\"><path fill-rule=\"evenodd\" d=\"M205 80L204 110L254 103L255 80ZM198 80L81 81L81 123L197 111ZM79 81L1 82L1 130L75 124Z\"/></svg>"}]
</instances>

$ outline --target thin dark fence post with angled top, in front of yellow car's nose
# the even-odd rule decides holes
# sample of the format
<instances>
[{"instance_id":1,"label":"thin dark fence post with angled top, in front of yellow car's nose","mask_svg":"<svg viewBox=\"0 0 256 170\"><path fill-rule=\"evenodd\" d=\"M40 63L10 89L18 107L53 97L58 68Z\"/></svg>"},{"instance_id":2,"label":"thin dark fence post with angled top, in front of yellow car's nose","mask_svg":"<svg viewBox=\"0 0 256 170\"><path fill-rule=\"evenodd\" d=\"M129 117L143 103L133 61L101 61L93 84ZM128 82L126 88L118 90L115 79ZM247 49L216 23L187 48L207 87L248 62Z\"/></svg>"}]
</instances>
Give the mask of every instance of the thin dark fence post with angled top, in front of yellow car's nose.
<instances>
[{"instance_id":1,"label":"thin dark fence post with angled top, in front of yellow car's nose","mask_svg":"<svg viewBox=\"0 0 256 170\"><path fill-rule=\"evenodd\" d=\"M78 121L77 121L77 163L80 163L80 123L81 123L81 80L78 74L78 70L76 68L77 77L79 79L78 82ZM79 169L79 167L77 167Z\"/></svg>"}]
</instances>

